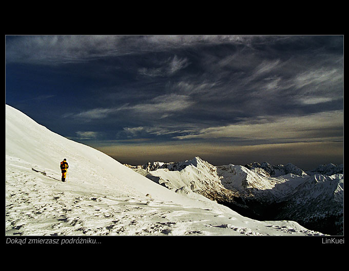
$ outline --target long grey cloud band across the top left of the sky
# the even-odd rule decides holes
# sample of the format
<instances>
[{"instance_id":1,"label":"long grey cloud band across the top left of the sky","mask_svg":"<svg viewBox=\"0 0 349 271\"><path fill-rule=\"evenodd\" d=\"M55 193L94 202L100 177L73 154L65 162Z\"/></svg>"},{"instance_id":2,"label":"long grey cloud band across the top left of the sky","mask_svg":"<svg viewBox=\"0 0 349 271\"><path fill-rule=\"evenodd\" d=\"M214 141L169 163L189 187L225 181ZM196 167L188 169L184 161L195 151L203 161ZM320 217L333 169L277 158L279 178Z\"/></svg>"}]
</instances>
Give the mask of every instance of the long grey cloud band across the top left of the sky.
<instances>
[{"instance_id":1,"label":"long grey cloud band across the top left of the sky","mask_svg":"<svg viewBox=\"0 0 349 271\"><path fill-rule=\"evenodd\" d=\"M240 43L236 36L197 35L40 35L7 36L6 61L42 65L59 65L84 62L102 57L112 57L144 52L171 50L200 44ZM172 59L170 72L183 65Z\"/></svg>"}]
</instances>

